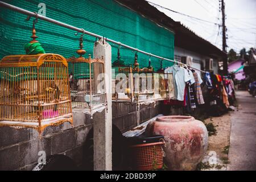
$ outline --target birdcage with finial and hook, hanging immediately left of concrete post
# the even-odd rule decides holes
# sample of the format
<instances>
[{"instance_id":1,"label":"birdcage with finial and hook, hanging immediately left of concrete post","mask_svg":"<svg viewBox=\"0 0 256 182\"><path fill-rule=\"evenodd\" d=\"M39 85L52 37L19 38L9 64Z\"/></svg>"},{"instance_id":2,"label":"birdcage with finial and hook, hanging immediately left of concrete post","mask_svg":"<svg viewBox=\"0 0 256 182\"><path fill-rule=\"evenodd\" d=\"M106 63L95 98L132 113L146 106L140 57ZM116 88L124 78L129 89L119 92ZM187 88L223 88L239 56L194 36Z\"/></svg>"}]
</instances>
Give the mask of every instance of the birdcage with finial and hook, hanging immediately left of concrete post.
<instances>
[{"instance_id":1,"label":"birdcage with finial and hook, hanging immediately left of concrete post","mask_svg":"<svg viewBox=\"0 0 256 182\"><path fill-rule=\"evenodd\" d=\"M71 57L69 63L69 85L71 87L72 107L85 109L91 115L93 110L106 105L104 86L104 59L82 57L86 53L83 48L83 35L80 37L79 57Z\"/></svg>"}]
</instances>

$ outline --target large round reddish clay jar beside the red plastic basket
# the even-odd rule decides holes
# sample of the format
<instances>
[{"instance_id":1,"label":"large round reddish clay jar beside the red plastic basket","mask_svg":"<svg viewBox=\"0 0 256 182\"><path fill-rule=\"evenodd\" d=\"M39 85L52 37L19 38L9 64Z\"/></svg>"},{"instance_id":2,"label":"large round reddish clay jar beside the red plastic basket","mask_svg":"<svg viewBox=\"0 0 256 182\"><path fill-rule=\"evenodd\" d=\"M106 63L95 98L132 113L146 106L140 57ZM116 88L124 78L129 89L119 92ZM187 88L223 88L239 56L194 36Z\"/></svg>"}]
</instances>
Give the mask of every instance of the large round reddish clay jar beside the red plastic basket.
<instances>
[{"instance_id":1,"label":"large round reddish clay jar beside the red plastic basket","mask_svg":"<svg viewBox=\"0 0 256 182\"><path fill-rule=\"evenodd\" d=\"M163 116L148 123L146 135L163 135L168 170L195 170L208 147L208 132L203 122L190 116Z\"/></svg>"}]
</instances>

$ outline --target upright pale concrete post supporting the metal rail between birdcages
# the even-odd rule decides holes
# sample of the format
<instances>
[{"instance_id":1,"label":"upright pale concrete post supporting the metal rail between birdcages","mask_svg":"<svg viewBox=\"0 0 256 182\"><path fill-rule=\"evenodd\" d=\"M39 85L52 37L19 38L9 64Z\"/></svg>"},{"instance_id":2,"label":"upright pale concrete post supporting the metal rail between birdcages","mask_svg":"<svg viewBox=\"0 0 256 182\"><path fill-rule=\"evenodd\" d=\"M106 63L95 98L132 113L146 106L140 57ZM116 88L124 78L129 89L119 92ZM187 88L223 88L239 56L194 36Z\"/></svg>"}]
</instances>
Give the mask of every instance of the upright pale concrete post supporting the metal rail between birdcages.
<instances>
[{"instance_id":1,"label":"upright pale concrete post supporting the metal rail between birdcages","mask_svg":"<svg viewBox=\"0 0 256 182\"><path fill-rule=\"evenodd\" d=\"M105 110L105 121L94 120L93 143L94 143L94 170L112 170L112 50L110 44L102 39L98 40L93 48L93 57L105 61L105 89L108 103Z\"/></svg>"}]
</instances>

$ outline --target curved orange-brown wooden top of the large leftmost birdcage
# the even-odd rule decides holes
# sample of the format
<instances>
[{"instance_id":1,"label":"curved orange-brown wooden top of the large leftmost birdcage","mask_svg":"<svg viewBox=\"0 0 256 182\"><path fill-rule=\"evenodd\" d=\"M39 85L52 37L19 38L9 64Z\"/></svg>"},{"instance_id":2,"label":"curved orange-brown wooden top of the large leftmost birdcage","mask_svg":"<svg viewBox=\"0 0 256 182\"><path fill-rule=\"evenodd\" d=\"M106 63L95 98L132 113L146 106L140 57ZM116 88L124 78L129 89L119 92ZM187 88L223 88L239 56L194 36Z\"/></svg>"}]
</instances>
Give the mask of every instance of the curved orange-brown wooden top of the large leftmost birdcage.
<instances>
[{"instance_id":1,"label":"curved orange-brown wooden top of the large leftmost birdcage","mask_svg":"<svg viewBox=\"0 0 256 182\"><path fill-rule=\"evenodd\" d=\"M12 67L22 67L22 66L40 66L44 61L62 62L66 67L68 67L67 60L55 53L39 53L37 55L8 55L0 60L1 66L12 66Z\"/></svg>"}]
</instances>

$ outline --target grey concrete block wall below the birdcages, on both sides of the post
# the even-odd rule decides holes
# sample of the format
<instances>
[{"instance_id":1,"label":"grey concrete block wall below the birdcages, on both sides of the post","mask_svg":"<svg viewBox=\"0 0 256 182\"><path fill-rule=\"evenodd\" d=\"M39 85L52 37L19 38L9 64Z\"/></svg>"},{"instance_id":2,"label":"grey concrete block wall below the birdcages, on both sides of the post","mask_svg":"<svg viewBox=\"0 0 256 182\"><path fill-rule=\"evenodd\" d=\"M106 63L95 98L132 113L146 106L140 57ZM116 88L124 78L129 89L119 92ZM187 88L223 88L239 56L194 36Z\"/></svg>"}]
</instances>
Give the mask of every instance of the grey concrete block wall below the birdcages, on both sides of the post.
<instances>
[{"instance_id":1,"label":"grey concrete block wall below the birdcages, on both sides of the post","mask_svg":"<svg viewBox=\"0 0 256 182\"><path fill-rule=\"evenodd\" d=\"M137 105L113 103L113 124L121 132L137 126ZM160 114L160 102L155 105L140 106L140 121L146 121ZM45 151L46 155L64 154L81 164L83 145L86 136L93 127L93 121L100 119L104 122L104 111L90 115L81 112L73 113L73 127L65 122L55 127L47 127L42 134L33 129L14 129L0 127L0 170L31 170L38 163L38 152Z\"/></svg>"}]
</instances>

